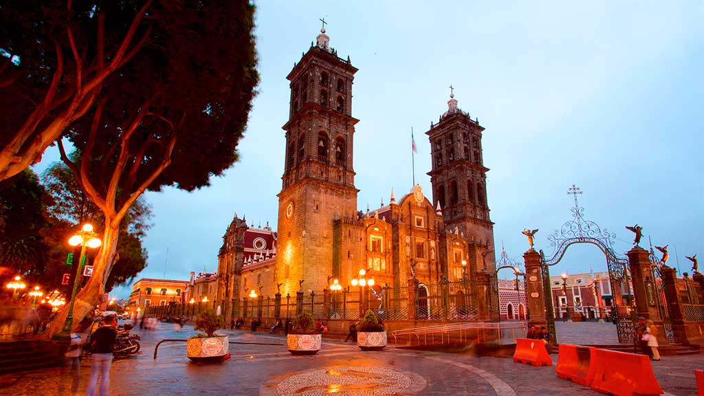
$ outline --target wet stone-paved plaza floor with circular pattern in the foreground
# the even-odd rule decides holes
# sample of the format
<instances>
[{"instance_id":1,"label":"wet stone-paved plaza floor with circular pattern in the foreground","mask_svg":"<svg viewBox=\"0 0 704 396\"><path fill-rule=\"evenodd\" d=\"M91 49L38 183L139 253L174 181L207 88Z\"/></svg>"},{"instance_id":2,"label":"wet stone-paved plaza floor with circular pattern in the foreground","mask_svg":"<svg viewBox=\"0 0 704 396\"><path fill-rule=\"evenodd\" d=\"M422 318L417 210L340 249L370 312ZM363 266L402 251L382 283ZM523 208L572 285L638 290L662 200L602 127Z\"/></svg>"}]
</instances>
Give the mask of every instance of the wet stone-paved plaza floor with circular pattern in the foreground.
<instances>
[{"instance_id":1,"label":"wet stone-paved plaza floor with circular pattern in the foreground","mask_svg":"<svg viewBox=\"0 0 704 396\"><path fill-rule=\"evenodd\" d=\"M565 337L581 334L603 339L610 323L558 323ZM191 326L177 331L160 323L142 333L136 357L116 359L111 371L111 395L598 395L591 388L555 376L555 366L513 363L510 357L477 357L460 353L420 352L389 345L381 352L362 352L351 343L325 340L315 356L293 357L282 335L224 331L232 358L220 364L194 364L184 342L166 342L153 359L156 342L186 339ZM570 335L572 334L572 335ZM612 335L615 337L615 333ZM269 344L269 345L263 345ZM278 345L270 345L278 344ZM553 354L553 361L557 355ZM668 356L653 362L665 395L696 395L694 369L704 355ZM89 363L82 364L79 395L86 392ZM70 395L70 378L61 369L43 369L0 376L2 395Z\"/></svg>"}]
</instances>

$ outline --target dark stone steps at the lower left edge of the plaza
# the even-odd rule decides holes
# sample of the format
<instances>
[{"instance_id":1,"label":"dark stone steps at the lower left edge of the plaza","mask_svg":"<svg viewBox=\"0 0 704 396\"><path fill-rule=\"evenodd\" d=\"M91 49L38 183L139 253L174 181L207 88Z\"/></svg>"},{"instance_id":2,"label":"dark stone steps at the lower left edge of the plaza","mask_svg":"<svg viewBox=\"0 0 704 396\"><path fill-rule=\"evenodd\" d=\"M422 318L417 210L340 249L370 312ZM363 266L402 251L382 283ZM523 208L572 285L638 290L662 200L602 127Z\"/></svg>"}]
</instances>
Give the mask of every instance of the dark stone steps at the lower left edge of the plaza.
<instances>
[{"instance_id":1,"label":"dark stone steps at the lower left edge of the plaza","mask_svg":"<svg viewBox=\"0 0 704 396\"><path fill-rule=\"evenodd\" d=\"M58 366L61 361L59 342L0 342L0 375Z\"/></svg>"}]
</instances>

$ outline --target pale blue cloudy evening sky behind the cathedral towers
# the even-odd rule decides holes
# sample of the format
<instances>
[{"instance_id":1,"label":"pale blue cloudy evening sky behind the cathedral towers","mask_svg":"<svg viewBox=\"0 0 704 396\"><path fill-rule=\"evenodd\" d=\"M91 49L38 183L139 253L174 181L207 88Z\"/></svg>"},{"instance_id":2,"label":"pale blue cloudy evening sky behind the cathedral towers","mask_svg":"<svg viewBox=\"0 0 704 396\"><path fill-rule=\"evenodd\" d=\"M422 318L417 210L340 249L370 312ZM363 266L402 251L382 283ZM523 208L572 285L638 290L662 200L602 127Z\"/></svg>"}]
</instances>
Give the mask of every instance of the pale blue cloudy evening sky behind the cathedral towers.
<instances>
[{"instance_id":1,"label":"pale blue cloudy evening sky behind the cathedral towers","mask_svg":"<svg viewBox=\"0 0 704 396\"><path fill-rule=\"evenodd\" d=\"M447 110L449 85L486 128L486 193L501 246L522 261L524 228L536 249L570 221L574 185L584 217L632 246L670 245L670 265L704 254L704 3L700 1L261 1L256 12L260 85L240 161L210 187L146 193L153 227L137 279L184 279L217 270L234 212L277 225L289 114L286 75L320 32L359 69L352 115L358 206L389 202L415 180L432 200L425 132ZM34 167L58 160L54 148ZM643 245L643 242L641 242ZM678 264L679 262L679 264ZM551 274L605 271L592 245L573 245ZM500 273L501 278L510 273ZM127 297L130 287L115 290Z\"/></svg>"}]
</instances>

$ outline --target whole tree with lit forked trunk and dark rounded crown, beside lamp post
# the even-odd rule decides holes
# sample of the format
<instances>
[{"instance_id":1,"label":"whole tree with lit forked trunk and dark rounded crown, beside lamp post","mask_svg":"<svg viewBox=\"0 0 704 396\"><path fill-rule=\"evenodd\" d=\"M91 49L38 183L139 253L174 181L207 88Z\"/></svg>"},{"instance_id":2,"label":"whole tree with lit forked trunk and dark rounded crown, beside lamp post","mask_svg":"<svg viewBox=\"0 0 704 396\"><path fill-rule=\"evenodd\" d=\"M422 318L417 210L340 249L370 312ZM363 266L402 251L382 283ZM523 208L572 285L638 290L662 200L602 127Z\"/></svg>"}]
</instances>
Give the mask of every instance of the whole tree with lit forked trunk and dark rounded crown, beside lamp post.
<instances>
[{"instance_id":1,"label":"whole tree with lit forked trunk and dark rounded crown, beside lamp post","mask_svg":"<svg viewBox=\"0 0 704 396\"><path fill-rule=\"evenodd\" d=\"M195 190L237 159L258 82L253 12L248 1L156 2L142 50L106 79L89 117L66 132L80 162L58 140L62 161L105 220L75 318L104 292L120 223L145 190Z\"/></svg>"}]
</instances>

